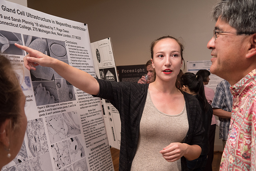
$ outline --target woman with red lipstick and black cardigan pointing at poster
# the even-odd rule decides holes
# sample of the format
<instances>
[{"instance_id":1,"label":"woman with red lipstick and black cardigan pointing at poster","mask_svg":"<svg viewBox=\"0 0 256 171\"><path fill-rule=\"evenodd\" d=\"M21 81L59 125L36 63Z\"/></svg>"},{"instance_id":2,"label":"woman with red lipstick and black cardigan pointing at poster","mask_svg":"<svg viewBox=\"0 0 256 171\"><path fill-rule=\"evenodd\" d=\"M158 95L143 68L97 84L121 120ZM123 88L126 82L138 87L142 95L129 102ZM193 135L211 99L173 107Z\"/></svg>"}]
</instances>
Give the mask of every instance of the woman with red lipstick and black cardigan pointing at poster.
<instances>
[{"instance_id":1,"label":"woman with red lipstick and black cardigan pointing at poster","mask_svg":"<svg viewBox=\"0 0 256 171\"><path fill-rule=\"evenodd\" d=\"M204 133L201 109L194 96L175 86L184 60L183 46L174 37L161 37L151 44L156 80L150 84L95 79L43 53L15 45L29 53L24 57L29 70L38 64L52 67L72 85L110 100L118 109L122 127L120 171L186 170L186 159L200 156Z\"/></svg>"}]
</instances>

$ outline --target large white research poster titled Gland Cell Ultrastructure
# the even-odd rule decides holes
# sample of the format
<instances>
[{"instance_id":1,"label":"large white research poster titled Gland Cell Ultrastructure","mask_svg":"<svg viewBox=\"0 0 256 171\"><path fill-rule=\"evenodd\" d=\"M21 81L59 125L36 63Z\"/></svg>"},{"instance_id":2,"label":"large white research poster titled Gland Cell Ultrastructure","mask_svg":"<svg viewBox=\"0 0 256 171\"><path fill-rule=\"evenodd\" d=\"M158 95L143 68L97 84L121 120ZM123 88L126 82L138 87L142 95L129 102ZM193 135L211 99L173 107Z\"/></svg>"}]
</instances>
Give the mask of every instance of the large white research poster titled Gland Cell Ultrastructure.
<instances>
[{"instance_id":1,"label":"large white research poster titled Gland Cell Ultrastructure","mask_svg":"<svg viewBox=\"0 0 256 171\"><path fill-rule=\"evenodd\" d=\"M22 148L3 170L112 171L100 99L51 68L28 71L23 66L27 53L14 46L36 49L96 77L87 25L4 0L0 5L0 50L22 80L28 119ZM107 57L102 61L113 62Z\"/></svg>"}]
</instances>

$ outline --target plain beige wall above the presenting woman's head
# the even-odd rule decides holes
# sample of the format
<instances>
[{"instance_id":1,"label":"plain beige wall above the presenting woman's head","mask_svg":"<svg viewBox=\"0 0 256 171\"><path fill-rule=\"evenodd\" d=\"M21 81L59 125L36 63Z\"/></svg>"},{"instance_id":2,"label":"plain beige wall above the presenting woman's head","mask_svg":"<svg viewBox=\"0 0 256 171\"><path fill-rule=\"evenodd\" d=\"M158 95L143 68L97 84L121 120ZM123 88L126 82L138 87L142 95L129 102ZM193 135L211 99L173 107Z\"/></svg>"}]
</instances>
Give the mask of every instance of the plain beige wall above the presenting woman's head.
<instances>
[{"instance_id":1,"label":"plain beige wall above the presenting woman's head","mask_svg":"<svg viewBox=\"0 0 256 171\"><path fill-rule=\"evenodd\" d=\"M90 41L111 37L117 65L144 64L151 42L182 37L185 61L210 60L210 11L217 0L27 0L28 7L87 23ZM42 3L40 3L42 2Z\"/></svg>"}]
</instances>

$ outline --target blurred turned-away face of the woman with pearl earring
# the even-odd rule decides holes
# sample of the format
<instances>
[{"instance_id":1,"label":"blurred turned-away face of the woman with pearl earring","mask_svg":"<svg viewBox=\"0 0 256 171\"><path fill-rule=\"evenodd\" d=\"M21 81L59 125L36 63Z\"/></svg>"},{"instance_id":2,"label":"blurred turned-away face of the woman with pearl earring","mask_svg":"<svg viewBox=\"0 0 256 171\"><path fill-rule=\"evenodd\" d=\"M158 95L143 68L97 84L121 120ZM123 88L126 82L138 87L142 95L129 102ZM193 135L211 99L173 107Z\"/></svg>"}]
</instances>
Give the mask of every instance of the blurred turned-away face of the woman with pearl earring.
<instances>
[{"instance_id":1,"label":"blurred turned-away face of the woman with pearl earring","mask_svg":"<svg viewBox=\"0 0 256 171\"><path fill-rule=\"evenodd\" d=\"M24 135L27 128L27 117L25 115L25 95L22 93L22 97L20 100L20 115L18 117L17 123L14 126L10 134L10 153L11 158L15 158L15 156L19 153L20 147L22 146ZM13 160L13 159L11 159Z\"/></svg>"}]
</instances>

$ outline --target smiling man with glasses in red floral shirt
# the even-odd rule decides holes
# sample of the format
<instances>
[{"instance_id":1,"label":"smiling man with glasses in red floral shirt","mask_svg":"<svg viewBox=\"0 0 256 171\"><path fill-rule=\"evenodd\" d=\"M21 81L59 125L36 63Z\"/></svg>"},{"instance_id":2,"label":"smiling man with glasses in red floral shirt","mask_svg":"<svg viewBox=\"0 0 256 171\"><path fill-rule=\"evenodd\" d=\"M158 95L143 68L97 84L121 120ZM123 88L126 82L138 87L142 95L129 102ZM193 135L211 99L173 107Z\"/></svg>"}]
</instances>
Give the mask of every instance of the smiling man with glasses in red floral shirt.
<instances>
[{"instance_id":1,"label":"smiling man with glasses in red floral shirt","mask_svg":"<svg viewBox=\"0 0 256 171\"><path fill-rule=\"evenodd\" d=\"M231 84L233 108L221 171L256 170L256 0L222 0L207 44L210 72Z\"/></svg>"}]
</instances>

